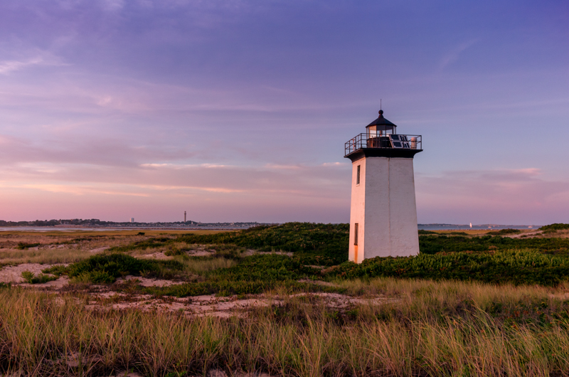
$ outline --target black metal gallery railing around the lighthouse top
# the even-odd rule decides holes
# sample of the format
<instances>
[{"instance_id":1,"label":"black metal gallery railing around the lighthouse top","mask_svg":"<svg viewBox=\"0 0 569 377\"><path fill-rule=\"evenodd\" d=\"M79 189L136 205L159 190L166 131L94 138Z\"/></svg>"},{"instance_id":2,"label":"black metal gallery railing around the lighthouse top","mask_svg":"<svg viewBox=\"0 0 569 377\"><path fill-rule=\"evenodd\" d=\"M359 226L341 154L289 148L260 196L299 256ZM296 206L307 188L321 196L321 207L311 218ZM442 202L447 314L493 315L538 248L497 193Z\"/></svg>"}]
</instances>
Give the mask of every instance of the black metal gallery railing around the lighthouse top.
<instances>
[{"instance_id":1,"label":"black metal gallery railing around the lighthouse top","mask_svg":"<svg viewBox=\"0 0 569 377\"><path fill-rule=\"evenodd\" d=\"M346 156L362 148L422 149L421 135L383 134L379 136L358 134L345 144Z\"/></svg>"}]
</instances>

